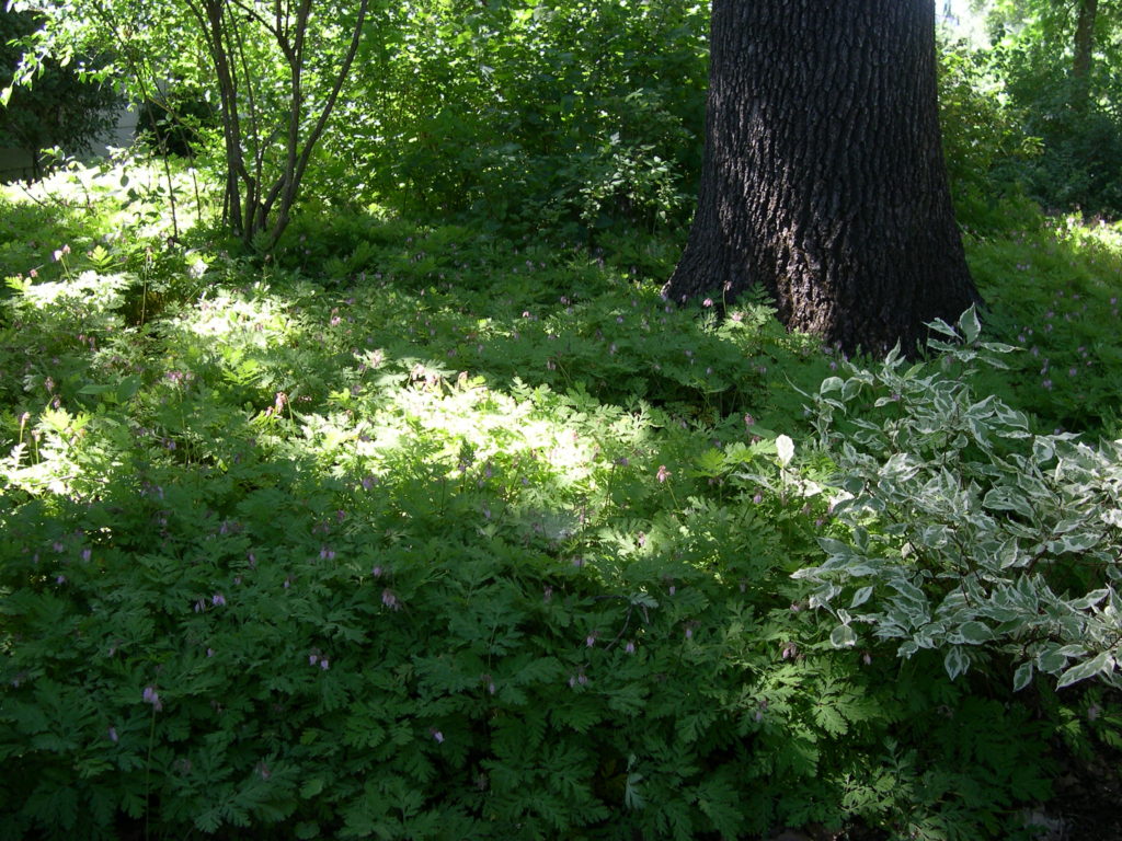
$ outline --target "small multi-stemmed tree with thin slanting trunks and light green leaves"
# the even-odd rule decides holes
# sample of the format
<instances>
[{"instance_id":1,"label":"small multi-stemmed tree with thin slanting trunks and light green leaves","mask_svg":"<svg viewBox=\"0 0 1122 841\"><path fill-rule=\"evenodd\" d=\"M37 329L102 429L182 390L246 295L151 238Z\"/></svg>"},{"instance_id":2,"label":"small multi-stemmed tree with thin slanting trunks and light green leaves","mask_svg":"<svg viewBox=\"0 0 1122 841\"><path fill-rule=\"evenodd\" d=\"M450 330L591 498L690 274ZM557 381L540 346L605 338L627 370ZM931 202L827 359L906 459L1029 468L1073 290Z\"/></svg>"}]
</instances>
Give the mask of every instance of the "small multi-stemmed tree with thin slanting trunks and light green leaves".
<instances>
[{"instance_id":1,"label":"small multi-stemmed tree with thin slanting trunks and light green leaves","mask_svg":"<svg viewBox=\"0 0 1122 841\"><path fill-rule=\"evenodd\" d=\"M269 251L358 52L368 0L74 0L45 4L37 49L96 47L137 102L167 102L177 83L221 114L222 218L248 247Z\"/></svg>"}]
</instances>

